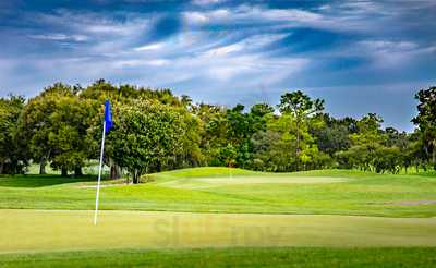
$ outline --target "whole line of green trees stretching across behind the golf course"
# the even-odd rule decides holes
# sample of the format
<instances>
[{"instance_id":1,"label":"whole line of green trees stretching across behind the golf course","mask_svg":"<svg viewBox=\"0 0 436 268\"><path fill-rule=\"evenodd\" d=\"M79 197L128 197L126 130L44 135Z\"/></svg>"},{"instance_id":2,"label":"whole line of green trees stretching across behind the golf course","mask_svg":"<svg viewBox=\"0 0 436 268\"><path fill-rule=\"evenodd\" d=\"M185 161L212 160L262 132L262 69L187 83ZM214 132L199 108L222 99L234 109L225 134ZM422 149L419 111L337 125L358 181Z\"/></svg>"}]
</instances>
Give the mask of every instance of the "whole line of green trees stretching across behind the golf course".
<instances>
[{"instance_id":1,"label":"whole line of green trees stretching across behind the golf course","mask_svg":"<svg viewBox=\"0 0 436 268\"><path fill-rule=\"evenodd\" d=\"M29 162L62 175L82 175L98 159L105 99L113 108L105 162L111 176L198 166L286 172L342 168L397 173L436 169L436 87L420 90L413 133L382 129L374 113L337 119L324 100L301 90L280 103L250 109L193 103L169 89L114 86L104 80L83 88L57 83L38 96L0 99L0 173L23 173Z\"/></svg>"}]
</instances>

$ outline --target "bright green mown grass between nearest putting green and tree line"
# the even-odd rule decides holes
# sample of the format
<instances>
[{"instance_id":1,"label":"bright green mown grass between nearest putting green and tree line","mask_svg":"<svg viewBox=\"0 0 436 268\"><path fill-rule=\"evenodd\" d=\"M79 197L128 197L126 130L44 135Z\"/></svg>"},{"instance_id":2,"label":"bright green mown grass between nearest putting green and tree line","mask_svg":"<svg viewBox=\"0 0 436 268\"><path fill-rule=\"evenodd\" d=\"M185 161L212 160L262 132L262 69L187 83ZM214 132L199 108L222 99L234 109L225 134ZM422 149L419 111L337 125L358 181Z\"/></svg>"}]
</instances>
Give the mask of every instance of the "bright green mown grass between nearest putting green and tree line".
<instances>
[{"instance_id":1,"label":"bright green mown grass between nearest putting green and tree line","mask_svg":"<svg viewBox=\"0 0 436 268\"><path fill-rule=\"evenodd\" d=\"M229 183L229 178L263 183ZM261 173L198 168L153 174L154 182L101 190L101 209L196 212L323 214L385 217L436 216L436 176L349 170ZM214 182L202 180L214 179ZM226 183L219 183L220 178ZM275 180L344 179L335 183L268 183ZM241 180L243 181L243 180ZM104 184L120 183L105 181ZM0 178L0 208L93 209L95 178Z\"/></svg>"}]
</instances>

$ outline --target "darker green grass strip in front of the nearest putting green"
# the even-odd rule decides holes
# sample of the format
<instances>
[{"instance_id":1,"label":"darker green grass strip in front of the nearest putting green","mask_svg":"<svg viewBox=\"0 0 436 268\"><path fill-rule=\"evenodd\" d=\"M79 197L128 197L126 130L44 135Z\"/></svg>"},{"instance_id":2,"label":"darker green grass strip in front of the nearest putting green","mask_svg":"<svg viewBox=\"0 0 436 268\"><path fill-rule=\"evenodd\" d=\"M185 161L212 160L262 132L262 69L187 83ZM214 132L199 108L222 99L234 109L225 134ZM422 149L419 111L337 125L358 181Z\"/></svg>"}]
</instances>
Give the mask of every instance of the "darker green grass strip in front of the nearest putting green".
<instances>
[{"instance_id":1,"label":"darker green grass strip in front of the nearest putting green","mask_svg":"<svg viewBox=\"0 0 436 268\"><path fill-rule=\"evenodd\" d=\"M411 248L205 248L89 251L1 255L13 267L434 267L435 247Z\"/></svg>"}]
</instances>

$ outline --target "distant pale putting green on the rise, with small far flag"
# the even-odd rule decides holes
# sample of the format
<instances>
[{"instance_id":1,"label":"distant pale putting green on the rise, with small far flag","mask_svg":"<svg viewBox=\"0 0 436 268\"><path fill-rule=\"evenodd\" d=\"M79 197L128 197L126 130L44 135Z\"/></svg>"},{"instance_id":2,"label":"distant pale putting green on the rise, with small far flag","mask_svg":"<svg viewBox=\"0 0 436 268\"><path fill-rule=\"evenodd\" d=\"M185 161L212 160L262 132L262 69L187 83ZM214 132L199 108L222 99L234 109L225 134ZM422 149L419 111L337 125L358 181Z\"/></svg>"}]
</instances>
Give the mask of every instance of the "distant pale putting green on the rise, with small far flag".
<instances>
[{"instance_id":1,"label":"distant pale putting green on the rise, with small far flag","mask_svg":"<svg viewBox=\"0 0 436 268\"><path fill-rule=\"evenodd\" d=\"M185 178L159 183L161 186L174 188L210 188L226 185L246 185L246 184L323 184L348 182L352 179L332 176L284 176L284 175L227 175L217 178Z\"/></svg>"}]
</instances>

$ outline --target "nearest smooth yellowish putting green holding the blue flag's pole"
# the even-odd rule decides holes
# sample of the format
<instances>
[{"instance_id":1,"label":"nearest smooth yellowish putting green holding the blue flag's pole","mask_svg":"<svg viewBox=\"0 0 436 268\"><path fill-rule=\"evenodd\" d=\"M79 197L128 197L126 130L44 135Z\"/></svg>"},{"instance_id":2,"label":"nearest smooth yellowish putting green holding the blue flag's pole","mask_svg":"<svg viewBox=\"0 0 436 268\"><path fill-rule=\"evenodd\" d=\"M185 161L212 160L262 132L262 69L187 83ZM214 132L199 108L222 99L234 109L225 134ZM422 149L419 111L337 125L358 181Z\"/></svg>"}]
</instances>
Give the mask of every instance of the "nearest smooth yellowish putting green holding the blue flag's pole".
<instances>
[{"instance_id":1,"label":"nearest smooth yellowish putting green holding the blue flag's pole","mask_svg":"<svg viewBox=\"0 0 436 268\"><path fill-rule=\"evenodd\" d=\"M0 210L0 252L222 246L436 246L436 218Z\"/></svg>"}]
</instances>

